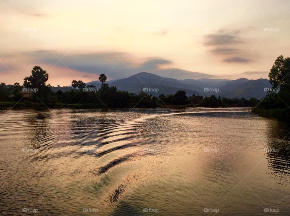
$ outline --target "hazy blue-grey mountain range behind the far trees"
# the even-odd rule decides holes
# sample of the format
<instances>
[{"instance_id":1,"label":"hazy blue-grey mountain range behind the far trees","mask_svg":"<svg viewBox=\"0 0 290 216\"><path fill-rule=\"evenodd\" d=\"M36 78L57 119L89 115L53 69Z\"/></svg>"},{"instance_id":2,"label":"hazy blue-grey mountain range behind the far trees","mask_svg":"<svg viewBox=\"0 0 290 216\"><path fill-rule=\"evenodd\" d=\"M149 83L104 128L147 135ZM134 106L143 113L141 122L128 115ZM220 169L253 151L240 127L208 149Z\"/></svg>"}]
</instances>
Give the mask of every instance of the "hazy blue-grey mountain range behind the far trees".
<instances>
[{"instance_id":1,"label":"hazy blue-grey mountain range behind the far trees","mask_svg":"<svg viewBox=\"0 0 290 216\"><path fill-rule=\"evenodd\" d=\"M159 96L160 94L175 94L178 90L184 90L187 96L202 95L211 96L212 94L228 98L246 98L256 97L263 98L267 92L264 88L271 88L268 79L249 80L246 78L229 80L229 79L172 79L167 77L157 76L152 73L137 73L130 77L118 80L110 80L106 82L109 86L116 86L119 90L124 90L139 94L145 91L147 94ZM86 85L94 85L97 88L101 87L99 81L92 81ZM64 87L52 87L53 91L58 91ZM148 89L148 91L146 91ZM158 91L157 91L158 89ZM150 91L152 90L152 91ZM155 90L155 91L154 91ZM67 91L67 89L66 89Z\"/></svg>"}]
</instances>

